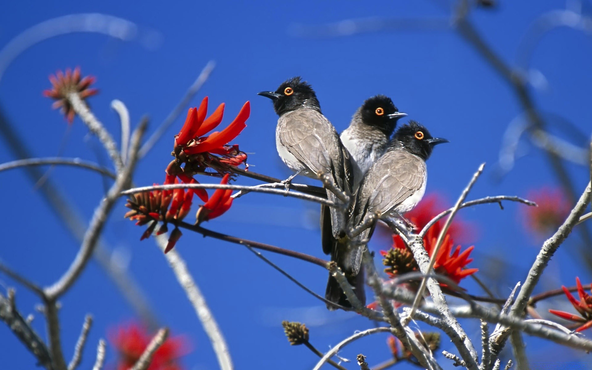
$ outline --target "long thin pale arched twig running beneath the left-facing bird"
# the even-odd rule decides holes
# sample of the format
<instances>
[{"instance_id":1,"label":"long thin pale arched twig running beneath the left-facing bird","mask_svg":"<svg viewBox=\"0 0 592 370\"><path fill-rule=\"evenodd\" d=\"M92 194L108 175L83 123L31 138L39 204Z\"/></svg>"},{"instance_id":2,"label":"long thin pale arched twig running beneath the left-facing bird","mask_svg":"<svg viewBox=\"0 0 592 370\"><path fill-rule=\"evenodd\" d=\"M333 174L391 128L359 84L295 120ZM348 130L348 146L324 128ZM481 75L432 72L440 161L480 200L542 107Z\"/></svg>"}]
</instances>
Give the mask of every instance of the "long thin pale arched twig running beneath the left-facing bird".
<instances>
[{"instance_id":1,"label":"long thin pale arched twig running beneath the left-facing bird","mask_svg":"<svg viewBox=\"0 0 592 370\"><path fill-rule=\"evenodd\" d=\"M315 195L303 194L300 192L285 191L280 189L259 188L257 186L243 186L243 185L224 185L224 184L170 184L170 185L153 185L142 186L140 188L128 189L122 191L121 195L136 194L145 191L153 190L172 190L172 189L231 189L231 190L248 190L253 192L260 192L266 194L284 195L284 197L298 198L305 201L316 202L319 204L328 205L329 207L342 208L342 205L335 204L332 201L316 197Z\"/></svg>"}]
</instances>

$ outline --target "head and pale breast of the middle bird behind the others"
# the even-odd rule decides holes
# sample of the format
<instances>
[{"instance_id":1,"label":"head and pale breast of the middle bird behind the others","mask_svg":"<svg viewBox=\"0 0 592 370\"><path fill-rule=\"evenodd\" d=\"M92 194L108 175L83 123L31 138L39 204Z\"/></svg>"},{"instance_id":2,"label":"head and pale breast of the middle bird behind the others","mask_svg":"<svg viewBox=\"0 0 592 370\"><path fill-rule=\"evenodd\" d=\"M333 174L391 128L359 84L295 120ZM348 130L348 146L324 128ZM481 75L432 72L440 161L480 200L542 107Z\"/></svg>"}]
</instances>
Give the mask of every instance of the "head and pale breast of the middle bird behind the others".
<instances>
[{"instance_id":1,"label":"head and pale breast of the middle bird behind the others","mask_svg":"<svg viewBox=\"0 0 592 370\"><path fill-rule=\"evenodd\" d=\"M358 187L370 166L387 150L392 131L399 118L407 113L399 112L391 98L372 96L355 112L349 127L341 133L341 141L352 155L353 184ZM352 163L353 164L353 163Z\"/></svg>"}]
</instances>

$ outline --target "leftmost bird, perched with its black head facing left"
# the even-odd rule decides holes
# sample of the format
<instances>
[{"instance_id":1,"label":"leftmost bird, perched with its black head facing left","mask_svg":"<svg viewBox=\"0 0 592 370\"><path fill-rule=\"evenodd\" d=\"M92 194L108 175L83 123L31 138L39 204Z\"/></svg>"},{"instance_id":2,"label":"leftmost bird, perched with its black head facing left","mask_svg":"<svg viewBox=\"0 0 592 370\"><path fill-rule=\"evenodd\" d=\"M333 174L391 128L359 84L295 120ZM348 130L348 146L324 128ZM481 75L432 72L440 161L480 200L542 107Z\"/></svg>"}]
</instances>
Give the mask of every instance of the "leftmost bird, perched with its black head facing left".
<instances>
[{"instance_id":1,"label":"leftmost bird, perched with its black head facing left","mask_svg":"<svg viewBox=\"0 0 592 370\"><path fill-rule=\"evenodd\" d=\"M298 173L319 178L329 175L337 189L349 197L352 186L350 155L341 143L337 131L321 112L313 88L300 77L288 79L276 91L263 91L274 102L279 115L275 130L275 144L284 163ZM337 202L337 197L327 189L327 198ZM331 208L332 236L345 235L345 212Z\"/></svg>"}]
</instances>

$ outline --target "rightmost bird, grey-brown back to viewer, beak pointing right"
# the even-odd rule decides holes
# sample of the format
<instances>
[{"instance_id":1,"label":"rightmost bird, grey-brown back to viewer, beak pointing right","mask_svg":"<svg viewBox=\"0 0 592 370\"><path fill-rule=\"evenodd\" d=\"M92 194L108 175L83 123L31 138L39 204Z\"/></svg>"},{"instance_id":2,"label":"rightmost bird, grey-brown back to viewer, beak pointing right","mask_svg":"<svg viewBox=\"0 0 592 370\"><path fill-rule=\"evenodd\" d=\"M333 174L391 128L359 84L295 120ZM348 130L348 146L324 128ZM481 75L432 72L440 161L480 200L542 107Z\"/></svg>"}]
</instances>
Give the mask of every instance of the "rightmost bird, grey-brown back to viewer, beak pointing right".
<instances>
[{"instance_id":1,"label":"rightmost bird, grey-brown back to viewer, beak pointing right","mask_svg":"<svg viewBox=\"0 0 592 370\"><path fill-rule=\"evenodd\" d=\"M384 155L370 167L362 179L356 192L348 230L363 227L374 217L382 220L397 219L413 209L426 191L426 160L432 155L434 146L448 142L446 139L433 137L417 121L409 121L401 126ZM363 244L370 239L375 226L376 223L372 222L353 238L357 243L351 246L352 258L344 263L346 276L355 276L360 271Z\"/></svg>"}]
</instances>

